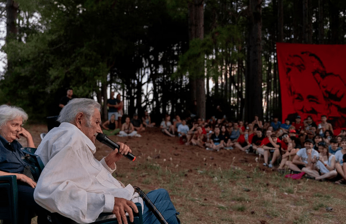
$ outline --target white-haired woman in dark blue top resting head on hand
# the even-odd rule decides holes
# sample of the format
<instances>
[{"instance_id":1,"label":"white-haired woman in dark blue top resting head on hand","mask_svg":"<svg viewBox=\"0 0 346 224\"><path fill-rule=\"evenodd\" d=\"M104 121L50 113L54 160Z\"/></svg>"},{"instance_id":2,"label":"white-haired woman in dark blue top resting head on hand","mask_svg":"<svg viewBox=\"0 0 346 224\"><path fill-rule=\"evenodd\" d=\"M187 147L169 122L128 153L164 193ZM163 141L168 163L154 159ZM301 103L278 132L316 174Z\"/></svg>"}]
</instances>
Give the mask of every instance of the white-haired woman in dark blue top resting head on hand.
<instances>
[{"instance_id":1,"label":"white-haired woman in dark blue top resting head on hand","mask_svg":"<svg viewBox=\"0 0 346 224\"><path fill-rule=\"evenodd\" d=\"M27 147L35 148L31 134L22 125L28 116L21 108L14 106L0 106L0 176L15 175L18 184L19 223L30 224L34 213L39 215L38 223L46 223L46 211L33 198L36 182L29 178L31 173L23 162L22 145L17 141L24 137ZM29 217L25 220L25 210ZM32 214L32 216L31 216Z\"/></svg>"}]
</instances>

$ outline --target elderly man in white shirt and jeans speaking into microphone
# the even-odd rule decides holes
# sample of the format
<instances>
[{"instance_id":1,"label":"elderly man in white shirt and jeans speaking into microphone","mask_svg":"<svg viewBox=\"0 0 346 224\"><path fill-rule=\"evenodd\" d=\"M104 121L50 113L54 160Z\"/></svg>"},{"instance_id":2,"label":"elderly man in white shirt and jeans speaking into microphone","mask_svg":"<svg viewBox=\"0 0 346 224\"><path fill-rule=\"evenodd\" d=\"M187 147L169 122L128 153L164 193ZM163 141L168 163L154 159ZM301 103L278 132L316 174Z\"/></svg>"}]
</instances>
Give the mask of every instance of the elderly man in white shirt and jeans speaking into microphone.
<instances>
[{"instance_id":1,"label":"elderly man in white shirt and jeans speaking into microphone","mask_svg":"<svg viewBox=\"0 0 346 224\"><path fill-rule=\"evenodd\" d=\"M60 126L45 136L36 151L45 168L35 189L35 201L77 223L92 223L100 213L112 212L120 224L127 224L125 213L133 222L133 208L136 213L143 212L145 224L159 224L134 188L112 176L115 162L131 149L118 142L122 155L115 149L100 161L94 157L95 134L102 133L99 111L99 103L82 98L71 100L62 109ZM166 190L151 191L148 197L169 223L180 223ZM140 202L143 211L137 211L134 202Z\"/></svg>"}]
</instances>

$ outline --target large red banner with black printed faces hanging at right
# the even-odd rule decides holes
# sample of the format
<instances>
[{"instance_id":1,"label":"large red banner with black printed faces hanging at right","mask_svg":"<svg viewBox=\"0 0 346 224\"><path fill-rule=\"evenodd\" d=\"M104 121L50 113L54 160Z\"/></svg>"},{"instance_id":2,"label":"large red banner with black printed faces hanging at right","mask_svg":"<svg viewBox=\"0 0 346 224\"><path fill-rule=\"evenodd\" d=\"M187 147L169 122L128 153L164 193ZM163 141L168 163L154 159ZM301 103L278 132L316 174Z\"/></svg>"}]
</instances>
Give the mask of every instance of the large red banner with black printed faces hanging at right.
<instances>
[{"instance_id":1,"label":"large red banner with black printed faces hanging at right","mask_svg":"<svg viewBox=\"0 0 346 224\"><path fill-rule=\"evenodd\" d=\"M327 115L335 133L346 128L346 45L276 43L282 120Z\"/></svg>"}]
</instances>

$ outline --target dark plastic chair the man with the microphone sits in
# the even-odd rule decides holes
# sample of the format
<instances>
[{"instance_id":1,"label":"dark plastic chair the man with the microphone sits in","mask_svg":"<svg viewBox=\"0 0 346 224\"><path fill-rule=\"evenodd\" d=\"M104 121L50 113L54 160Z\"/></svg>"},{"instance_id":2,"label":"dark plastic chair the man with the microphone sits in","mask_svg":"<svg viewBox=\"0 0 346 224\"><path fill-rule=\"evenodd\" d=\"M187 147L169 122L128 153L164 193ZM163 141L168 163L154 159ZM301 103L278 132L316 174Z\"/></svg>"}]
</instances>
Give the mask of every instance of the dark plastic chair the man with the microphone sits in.
<instances>
[{"instance_id":1,"label":"dark plastic chair the man with the microphone sits in","mask_svg":"<svg viewBox=\"0 0 346 224\"><path fill-rule=\"evenodd\" d=\"M26 154L23 158L23 161L30 166L30 171L35 181L41 175L42 170L45 168L41 158L38 155L35 155L36 148L22 148L22 151ZM134 220L133 223L130 222L127 217L127 222L129 224L143 224L142 218L142 205L136 203L139 213L133 213ZM76 224L73 220L66 218L58 213L50 213L50 218L53 224ZM112 213L101 213L99 218L93 224L118 224L117 218Z\"/></svg>"}]
</instances>

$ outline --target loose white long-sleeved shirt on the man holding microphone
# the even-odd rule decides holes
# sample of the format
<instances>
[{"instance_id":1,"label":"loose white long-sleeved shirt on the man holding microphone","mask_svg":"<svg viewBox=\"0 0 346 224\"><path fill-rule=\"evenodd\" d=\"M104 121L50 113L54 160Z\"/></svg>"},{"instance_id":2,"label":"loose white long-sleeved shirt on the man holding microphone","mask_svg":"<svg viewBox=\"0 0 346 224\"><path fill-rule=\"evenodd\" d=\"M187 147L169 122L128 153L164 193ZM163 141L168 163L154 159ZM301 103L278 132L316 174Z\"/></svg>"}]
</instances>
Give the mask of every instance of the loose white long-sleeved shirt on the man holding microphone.
<instances>
[{"instance_id":1,"label":"loose white long-sleeved shirt on the man holding microphone","mask_svg":"<svg viewBox=\"0 0 346 224\"><path fill-rule=\"evenodd\" d=\"M50 212L58 212L77 223L93 223L102 212L112 212L114 197L133 202L143 200L133 187L112 176L96 147L76 126L62 123L44 137L36 154L45 168L34 191L35 201Z\"/></svg>"}]
</instances>

